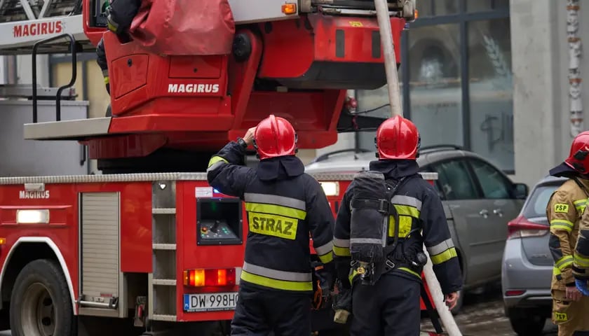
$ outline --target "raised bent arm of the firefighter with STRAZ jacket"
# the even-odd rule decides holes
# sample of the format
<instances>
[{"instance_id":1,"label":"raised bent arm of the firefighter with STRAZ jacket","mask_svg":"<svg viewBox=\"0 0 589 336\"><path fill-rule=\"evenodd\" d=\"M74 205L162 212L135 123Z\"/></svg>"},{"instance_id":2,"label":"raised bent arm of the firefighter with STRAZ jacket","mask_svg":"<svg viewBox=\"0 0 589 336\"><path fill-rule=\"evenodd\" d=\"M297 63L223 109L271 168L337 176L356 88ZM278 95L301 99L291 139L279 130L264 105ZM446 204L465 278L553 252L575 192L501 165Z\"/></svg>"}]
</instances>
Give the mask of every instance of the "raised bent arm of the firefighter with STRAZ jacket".
<instances>
[{"instance_id":1,"label":"raised bent arm of the firefighter with STRAZ jacket","mask_svg":"<svg viewBox=\"0 0 589 336\"><path fill-rule=\"evenodd\" d=\"M229 142L210 158L207 169L210 186L225 195L243 199L245 186L255 176L253 169L245 167L245 149L252 144L254 130L250 128L243 139Z\"/></svg>"}]
</instances>

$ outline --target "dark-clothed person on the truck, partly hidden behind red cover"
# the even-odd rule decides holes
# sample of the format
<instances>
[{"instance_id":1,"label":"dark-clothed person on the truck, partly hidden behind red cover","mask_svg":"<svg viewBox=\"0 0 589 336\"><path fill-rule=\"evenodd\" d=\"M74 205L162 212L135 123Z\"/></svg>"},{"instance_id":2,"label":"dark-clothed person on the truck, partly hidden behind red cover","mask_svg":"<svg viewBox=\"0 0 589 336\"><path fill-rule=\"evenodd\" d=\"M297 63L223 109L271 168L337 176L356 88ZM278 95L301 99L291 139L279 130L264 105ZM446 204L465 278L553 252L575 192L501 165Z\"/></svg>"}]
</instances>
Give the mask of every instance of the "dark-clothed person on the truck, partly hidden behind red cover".
<instances>
[{"instance_id":1,"label":"dark-clothed person on the truck, partly hidden behind red cover","mask_svg":"<svg viewBox=\"0 0 589 336\"><path fill-rule=\"evenodd\" d=\"M127 32L131 27L133 18L139 11L141 0L112 0L111 3L108 1L110 0L104 2L108 29L119 37L121 43L130 41ZM102 76L104 76L104 85L110 94L109 64L104 50L104 38L100 38L100 42L96 46L96 56L96 62L100 66L100 70L102 70Z\"/></svg>"}]
</instances>

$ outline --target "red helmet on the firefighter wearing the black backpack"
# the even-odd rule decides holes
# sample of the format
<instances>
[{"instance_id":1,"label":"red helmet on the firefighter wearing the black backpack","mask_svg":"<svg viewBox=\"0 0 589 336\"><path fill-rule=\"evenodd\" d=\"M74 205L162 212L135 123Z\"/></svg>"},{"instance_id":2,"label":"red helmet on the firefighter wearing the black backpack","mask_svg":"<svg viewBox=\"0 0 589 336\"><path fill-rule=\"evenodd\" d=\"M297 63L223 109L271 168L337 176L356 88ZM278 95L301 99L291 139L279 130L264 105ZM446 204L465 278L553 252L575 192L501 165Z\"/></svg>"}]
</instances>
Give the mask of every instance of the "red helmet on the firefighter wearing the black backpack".
<instances>
[{"instance_id":1,"label":"red helmet on the firefighter wearing the black backpack","mask_svg":"<svg viewBox=\"0 0 589 336\"><path fill-rule=\"evenodd\" d=\"M379 126L374 142L379 151L377 158L381 160L415 160L421 139L414 123L401 116L395 116L384 120Z\"/></svg>"}]
</instances>

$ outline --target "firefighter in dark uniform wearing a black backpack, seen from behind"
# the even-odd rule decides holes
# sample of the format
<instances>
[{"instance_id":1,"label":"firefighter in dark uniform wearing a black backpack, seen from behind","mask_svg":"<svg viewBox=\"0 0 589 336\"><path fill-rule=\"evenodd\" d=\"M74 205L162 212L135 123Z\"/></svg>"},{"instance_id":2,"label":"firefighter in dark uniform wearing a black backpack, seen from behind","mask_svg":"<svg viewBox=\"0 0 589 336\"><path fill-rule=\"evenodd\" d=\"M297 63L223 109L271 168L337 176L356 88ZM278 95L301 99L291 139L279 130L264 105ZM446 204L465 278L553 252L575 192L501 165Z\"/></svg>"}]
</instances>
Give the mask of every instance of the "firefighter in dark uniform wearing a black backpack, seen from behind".
<instances>
[{"instance_id":1,"label":"firefighter in dark uniform wearing a black backpack, seen from behind","mask_svg":"<svg viewBox=\"0 0 589 336\"><path fill-rule=\"evenodd\" d=\"M337 282L344 293L351 288L350 335L415 336L419 335L421 319L421 272L427 261L422 245L431 255L449 309L455 307L457 292L462 288L461 269L440 197L418 173L420 137L415 125L400 116L389 118L378 128L375 142L379 160L370 162L370 172L384 174L386 183L395 190L385 202L391 206L387 214L395 215L384 217L384 223L388 223L383 229L386 247L381 244L384 260L374 266L374 283L364 283L363 274L369 272L356 266L353 241L372 239L353 237L354 225L370 225L356 230L357 235L363 235L378 221L354 218L363 211L362 204L354 204L360 189L355 178L344 194L334 228Z\"/></svg>"}]
</instances>

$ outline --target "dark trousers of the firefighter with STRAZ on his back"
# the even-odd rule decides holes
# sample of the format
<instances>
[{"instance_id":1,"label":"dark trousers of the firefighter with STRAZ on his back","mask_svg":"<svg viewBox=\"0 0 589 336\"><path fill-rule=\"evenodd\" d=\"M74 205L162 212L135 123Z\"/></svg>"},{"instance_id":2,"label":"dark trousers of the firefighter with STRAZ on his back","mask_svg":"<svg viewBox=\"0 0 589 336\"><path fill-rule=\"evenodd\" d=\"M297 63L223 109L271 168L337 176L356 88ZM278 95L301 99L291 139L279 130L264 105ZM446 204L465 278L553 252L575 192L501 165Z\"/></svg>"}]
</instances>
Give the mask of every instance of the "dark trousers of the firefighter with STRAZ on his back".
<instances>
[{"instance_id":1,"label":"dark trousers of the firefighter with STRAZ on his back","mask_svg":"<svg viewBox=\"0 0 589 336\"><path fill-rule=\"evenodd\" d=\"M239 288L232 336L311 335L311 295Z\"/></svg>"}]
</instances>

